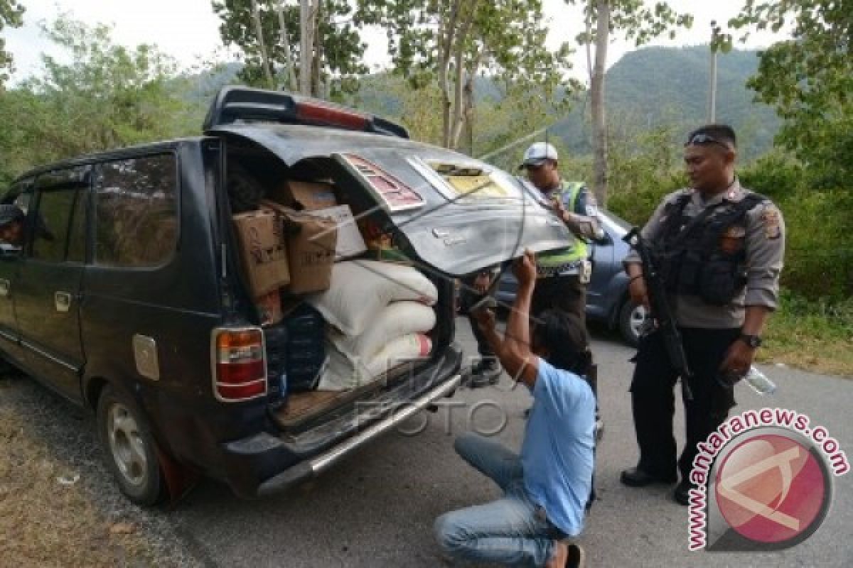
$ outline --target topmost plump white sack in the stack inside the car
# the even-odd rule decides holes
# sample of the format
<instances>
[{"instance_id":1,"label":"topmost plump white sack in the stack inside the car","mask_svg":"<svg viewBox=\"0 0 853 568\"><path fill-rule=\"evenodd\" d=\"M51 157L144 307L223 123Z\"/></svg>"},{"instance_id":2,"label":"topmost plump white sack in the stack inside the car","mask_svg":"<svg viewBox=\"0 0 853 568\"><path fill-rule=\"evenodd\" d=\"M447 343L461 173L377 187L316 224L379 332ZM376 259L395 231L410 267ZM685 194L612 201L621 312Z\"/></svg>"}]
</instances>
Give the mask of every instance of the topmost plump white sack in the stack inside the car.
<instances>
[{"instance_id":1,"label":"topmost plump white sack in the stack inside the car","mask_svg":"<svg viewBox=\"0 0 853 568\"><path fill-rule=\"evenodd\" d=\"M332 268L325 292L307 295L311 306L345 335L360 336L380 310L392 301L419 301L432 306L438 290L415 268L389 262L346 261Z\"/></svg>"}]
</instances>

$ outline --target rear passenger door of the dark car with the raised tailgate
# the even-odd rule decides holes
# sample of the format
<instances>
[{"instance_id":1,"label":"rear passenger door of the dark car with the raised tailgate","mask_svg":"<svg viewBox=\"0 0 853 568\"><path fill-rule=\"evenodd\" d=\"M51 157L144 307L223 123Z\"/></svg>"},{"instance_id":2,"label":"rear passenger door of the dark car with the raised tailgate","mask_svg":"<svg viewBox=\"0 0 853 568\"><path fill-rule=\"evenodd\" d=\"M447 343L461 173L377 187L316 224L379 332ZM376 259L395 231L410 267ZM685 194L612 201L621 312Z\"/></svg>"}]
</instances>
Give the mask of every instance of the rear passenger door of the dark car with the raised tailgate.
<instances>
[{"instance_id":1,"label":"rear passenger door of the dark car with the raised tailgate","mask_svg":"<svg viewBox=\"0 0 853 568\"><path fill-rule=\"evenodd\" d=\"M82 400L79 301L90 181L90 166L38 176L13 295L27 370L76 401Z\"/></svg>"}]
</instances>

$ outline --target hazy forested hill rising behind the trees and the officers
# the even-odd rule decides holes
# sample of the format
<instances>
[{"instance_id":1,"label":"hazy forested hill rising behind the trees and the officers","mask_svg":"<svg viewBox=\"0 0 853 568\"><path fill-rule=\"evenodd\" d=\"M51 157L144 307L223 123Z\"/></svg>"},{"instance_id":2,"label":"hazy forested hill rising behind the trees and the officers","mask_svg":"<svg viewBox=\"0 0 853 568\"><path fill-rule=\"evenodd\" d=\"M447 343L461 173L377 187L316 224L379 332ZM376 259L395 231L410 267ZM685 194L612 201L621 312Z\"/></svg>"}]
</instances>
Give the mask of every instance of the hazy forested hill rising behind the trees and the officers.
<instances>
[{"instance_id":1,"label":"hazy forested hill rising behind the trees and the officers","mask_svg":"<svg viewBox=\"0 0 853 568\"><path fill-rule=\"evenodd\" d=\"M718 56L717 122L734 126L740 136L741 153L747 159L769 150L779 125L775 112L753 102L754 93L746 88L746 81L757 66L757 51L733 50ZM710 75L707 45L645 48L624 55L607 72L607 115L612 135L636 135L659 126L686 134L688 129L705 123ZM366 77L351 102L405 122L406 118L399 116L402 109L395 95L398 91L388 89L389 82L392 79L383 75ZM500 100L501 89L490 79L479 77L475 95L477 100ZM589 117L589 100L582 97L566 117L554 117L554 127L549 131L578 155L591 152L589 118L584 119L584 114Z\"/></svg>"}]
</instances>

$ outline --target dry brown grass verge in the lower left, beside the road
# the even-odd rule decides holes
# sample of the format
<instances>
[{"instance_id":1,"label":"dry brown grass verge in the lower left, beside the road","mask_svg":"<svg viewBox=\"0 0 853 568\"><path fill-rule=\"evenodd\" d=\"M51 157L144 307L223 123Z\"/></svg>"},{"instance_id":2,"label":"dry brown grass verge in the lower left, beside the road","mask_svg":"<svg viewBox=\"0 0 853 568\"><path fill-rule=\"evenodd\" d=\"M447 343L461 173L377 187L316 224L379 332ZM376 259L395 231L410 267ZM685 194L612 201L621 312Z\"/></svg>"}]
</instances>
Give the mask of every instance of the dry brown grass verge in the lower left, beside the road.
<instances>
[{"instance_id":1,"label":"dry brown grass verge in the lower left, beside the road","mask_svg":"<svg viewBox=\"0 0 853 568\"><path fill-rule=\"evenodd\" d=\"M134 525L108 521L82 480L28 433L26 416L8 404L13 388L0 379L0 565L156 565Z\"/></svg>"}]
</instances>

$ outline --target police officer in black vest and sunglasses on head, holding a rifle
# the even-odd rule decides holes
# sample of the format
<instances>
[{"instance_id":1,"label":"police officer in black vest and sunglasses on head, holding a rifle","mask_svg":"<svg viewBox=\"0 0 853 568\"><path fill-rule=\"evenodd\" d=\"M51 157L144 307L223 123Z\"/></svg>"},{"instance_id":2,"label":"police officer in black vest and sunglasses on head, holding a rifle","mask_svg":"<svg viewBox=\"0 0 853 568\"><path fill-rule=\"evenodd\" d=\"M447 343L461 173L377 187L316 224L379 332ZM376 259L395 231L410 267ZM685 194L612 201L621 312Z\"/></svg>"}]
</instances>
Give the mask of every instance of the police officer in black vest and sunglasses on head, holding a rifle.
<instances>
[{"instance_id":1,"label":"police officer in black vest and sunglasses on head, holding a rifle","mask_svg":"<svg viewBox=\"0 0 853 568\"><path fill-rule=\"evenodd\" d=\"M684 150L691 186L659 205L642 235L661 265L670 306L682 332L693 399L684 399L687 441L673 494L688 504L689 475L699 442L734 406L734 382L749 370L768 314L775 309L785 226L768 198L740 186L734 130L711 124L694 130ZM624 260L631 299L648 305L639 256ZM672 369L659 332L643 336L631 382L640 461L622 473L632 487L675 483L676 441Z\"/></svg>"}]
</instances>

